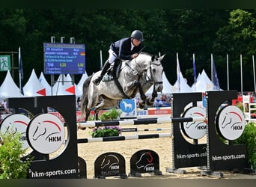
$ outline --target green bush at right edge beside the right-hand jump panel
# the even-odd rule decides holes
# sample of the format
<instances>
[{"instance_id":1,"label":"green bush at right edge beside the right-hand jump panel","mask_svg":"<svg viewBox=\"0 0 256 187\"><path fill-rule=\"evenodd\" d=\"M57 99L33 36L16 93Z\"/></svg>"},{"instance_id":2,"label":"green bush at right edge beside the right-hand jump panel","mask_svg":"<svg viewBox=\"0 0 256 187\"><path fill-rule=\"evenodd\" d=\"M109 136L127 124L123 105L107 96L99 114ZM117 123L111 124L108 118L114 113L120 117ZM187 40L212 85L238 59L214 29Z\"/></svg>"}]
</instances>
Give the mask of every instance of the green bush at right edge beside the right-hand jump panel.
<instances>
[{"instance_id":1,"label":"green bush at right edge beside the right-hand jump panel","mask_svg":"<svg viewBox=\"0 0 256 187\"><path fill-rule=\"evenodd\" d=\"M256 169L256 126L255 123L247 123L243 134L234 141L234 144L246 144L248 162Z\"/></svg>"}]
</instances>

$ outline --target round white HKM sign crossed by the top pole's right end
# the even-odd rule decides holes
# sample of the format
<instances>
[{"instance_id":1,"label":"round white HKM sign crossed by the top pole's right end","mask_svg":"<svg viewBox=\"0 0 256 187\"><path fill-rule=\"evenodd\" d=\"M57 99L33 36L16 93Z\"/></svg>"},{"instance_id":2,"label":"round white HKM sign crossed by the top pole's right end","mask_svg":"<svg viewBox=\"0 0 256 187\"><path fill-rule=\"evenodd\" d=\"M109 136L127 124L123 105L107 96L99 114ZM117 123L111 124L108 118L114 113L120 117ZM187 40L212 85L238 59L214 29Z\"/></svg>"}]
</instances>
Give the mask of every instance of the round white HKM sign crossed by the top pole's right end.
<instances>
[{"instance_id":1,"label":"round white HKM sign crossed by the top pole's right end","mask_svg":"<svg viewBox=\"0 0 256 187\"><path fill-rule=\"evenodd\" d=\"M206 117L206 111L204 108L195 106L188 108L184 112L183 117ZM181 129L187 137L192 139L200 139L207 133L207 123L204 121L184 122L181 125Z\"/></svg>"}]
</instances>

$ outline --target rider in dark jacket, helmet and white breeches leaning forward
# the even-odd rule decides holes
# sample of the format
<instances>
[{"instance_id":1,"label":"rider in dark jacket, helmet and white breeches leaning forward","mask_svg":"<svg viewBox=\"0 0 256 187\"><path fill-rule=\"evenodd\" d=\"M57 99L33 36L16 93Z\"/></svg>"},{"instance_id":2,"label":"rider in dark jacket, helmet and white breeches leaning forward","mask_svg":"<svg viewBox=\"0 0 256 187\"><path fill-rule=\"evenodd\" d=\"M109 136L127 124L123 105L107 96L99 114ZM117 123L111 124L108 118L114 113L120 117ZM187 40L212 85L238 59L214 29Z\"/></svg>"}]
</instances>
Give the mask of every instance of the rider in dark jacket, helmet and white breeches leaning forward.
<instances>
[{"instance_id":1,"label":"rider in dark jacket, helmet and white breeches leaning forward","mask_svg":"<svg viewBox=\"0 0 256 187\"><path fill-rule=\"evenodd\" d=\"M138 52L142 49L143 33L141 31L132 31L130 37L124 37L112 43L109 46L109 59L105 62L100 76L94 79L94 84L99 85L103 76L109 70L110 64L115 62L114 67L118 65L120 60L131 60L138 56Z\"/></svg>"}]
</instances>

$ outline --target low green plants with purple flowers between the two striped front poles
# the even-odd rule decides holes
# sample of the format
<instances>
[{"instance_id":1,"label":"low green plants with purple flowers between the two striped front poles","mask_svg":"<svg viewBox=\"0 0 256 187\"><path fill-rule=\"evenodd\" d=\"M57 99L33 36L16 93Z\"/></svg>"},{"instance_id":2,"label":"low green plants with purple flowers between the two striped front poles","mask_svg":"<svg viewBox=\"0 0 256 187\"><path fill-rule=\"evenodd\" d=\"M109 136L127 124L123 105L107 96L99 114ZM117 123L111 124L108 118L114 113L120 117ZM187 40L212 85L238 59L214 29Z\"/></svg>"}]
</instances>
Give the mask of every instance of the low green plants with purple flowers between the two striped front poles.
<instances>
[{"instance_id":1,"label":"low green plants with purple flowers between the two striped front poles","mask_svg":"<svg viewBox=\"0 0 256 187\"><path fill-rule=\"evenodd\" d=\"M118 136L121 133L121 129L119 126L94 127L92 132L89 133L93 138Z\"/></svg>"}]
</instances>

